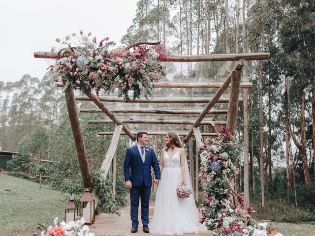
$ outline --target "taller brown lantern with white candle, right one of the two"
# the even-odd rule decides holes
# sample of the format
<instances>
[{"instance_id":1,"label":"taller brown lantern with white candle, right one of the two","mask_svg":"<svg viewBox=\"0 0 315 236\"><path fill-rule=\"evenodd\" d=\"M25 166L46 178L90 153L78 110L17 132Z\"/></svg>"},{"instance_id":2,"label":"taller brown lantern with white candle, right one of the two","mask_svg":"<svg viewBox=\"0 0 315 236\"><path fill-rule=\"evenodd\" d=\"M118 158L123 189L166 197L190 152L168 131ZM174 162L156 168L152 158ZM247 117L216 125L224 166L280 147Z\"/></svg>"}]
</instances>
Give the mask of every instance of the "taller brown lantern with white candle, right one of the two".
<instances>
[{"instance_id":1,"label":"taller brown lantern with white candle, right one of the two","mask_svg":"<svg viewBox=\"0 0 315 236\"><path fill-rule=\"evenodd\" d=\"M80 215L84 217L85 224L87 225L92 225L95 221L94 207L95 207L95 200L90 193L90 189L85 188L84 194L80 199ZM82 209L82 213L81 213L81 209Z\"/></svg>"}]
</instances>

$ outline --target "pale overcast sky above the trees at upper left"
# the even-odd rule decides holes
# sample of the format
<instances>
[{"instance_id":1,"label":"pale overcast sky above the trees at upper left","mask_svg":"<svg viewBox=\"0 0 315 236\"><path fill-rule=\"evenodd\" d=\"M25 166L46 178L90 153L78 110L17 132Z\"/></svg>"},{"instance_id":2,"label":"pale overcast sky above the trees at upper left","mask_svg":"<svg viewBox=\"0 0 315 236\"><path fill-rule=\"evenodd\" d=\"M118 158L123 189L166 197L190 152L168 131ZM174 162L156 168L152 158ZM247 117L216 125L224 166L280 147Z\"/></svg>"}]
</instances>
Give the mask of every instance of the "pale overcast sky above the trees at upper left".
<instances>
[{"instance_id":1,"label":"pale overcast sky above the trees at upper left","mask_svg":"<svg viewBox=\"0 0 315 236\"><path fill-rule=\"evenodd\" d=\"M1 0L0 81L24 74L41 79L47 62L33 52L60 47L55 39L92 31L119 44L135 16L137 0Z\"/></svg>"}]
</instances>

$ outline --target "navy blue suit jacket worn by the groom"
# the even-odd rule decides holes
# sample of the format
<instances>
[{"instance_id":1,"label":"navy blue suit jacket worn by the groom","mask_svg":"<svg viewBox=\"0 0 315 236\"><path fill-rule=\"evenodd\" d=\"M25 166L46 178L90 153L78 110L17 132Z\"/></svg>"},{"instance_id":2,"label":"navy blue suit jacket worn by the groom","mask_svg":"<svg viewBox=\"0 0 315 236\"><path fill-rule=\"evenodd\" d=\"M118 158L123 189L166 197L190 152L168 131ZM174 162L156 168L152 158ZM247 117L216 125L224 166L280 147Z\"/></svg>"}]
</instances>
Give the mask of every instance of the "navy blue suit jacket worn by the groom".
<instances>
[{"instance_id":1,"label":"navy blue suit jacket worn by the groom","mask_svg":"<svg viewBox=\"0 0 315 236\"><path fill-rule=\"evenodd\" d=\"M145 147L146 158L143 163L137 146L127 148L124 162L125 181L131 181L132 186L141 186L143 183L147 187L152 186L151 167L154 169L156 179L160 179L158 160L154 150Z\"/></svg>"}]
</instances>

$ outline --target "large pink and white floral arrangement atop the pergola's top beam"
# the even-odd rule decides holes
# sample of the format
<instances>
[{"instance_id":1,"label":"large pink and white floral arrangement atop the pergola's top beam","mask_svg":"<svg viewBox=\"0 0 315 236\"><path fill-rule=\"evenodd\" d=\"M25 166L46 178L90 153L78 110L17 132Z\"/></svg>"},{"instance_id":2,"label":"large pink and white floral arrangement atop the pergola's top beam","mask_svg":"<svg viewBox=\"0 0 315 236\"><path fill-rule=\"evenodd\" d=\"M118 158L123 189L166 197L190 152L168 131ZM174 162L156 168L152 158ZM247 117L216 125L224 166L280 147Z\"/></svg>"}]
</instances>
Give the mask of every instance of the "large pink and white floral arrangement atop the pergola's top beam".
<instances>
[{"instance_id":1,"label":"large pink and white floral arrangement atop the pergola's top beam","mask_svg":"<svg viewBox=\"0 0 315 236\"><path fill-rule=\"evenodd\" d=\"M55 81L60 76L66 79L66 86L89 92L92 89L99 94L101 89L112 92L118 88L118 96L130 100L129 92L133 91L133 99L141 94L148 99L152 97L153 83L159 81L165 74L161 61L168 56L159 48L138 46L133 51L118 48L110 51L113 41L105 37L97 42L90 32L87 36L81 30L80 35L72 33L65 39L56 41L67 48L58 53L56 63L52 68ZM75 44L71 47L70 43ZM52 49L52 53L55 48ZM54 55L54 54L53 54Z\"/></svg>"}]
</instances>

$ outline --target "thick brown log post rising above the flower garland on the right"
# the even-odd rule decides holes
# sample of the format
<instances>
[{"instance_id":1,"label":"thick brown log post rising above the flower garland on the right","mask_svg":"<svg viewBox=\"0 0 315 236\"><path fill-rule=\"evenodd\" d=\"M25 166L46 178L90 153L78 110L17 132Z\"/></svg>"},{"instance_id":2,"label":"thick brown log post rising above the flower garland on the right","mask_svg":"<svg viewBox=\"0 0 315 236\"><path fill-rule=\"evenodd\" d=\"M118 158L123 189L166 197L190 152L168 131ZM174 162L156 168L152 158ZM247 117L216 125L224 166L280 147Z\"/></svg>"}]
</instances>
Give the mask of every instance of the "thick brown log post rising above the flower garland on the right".
<instances>
[{"instance_id":1,"label":"thick brown log post rising above the flower garland on the right","mask_svg":"<svg viewBox=\"0 0 315 236\"><path fill-rule=\"evenodd\" d=\"M238 99L240 94L241 84L241 71L233 71L230 99L227 108L227 124L226 128L233 134L236 125L237 113L238 113Z\"/></svg>"}]
</instances>

